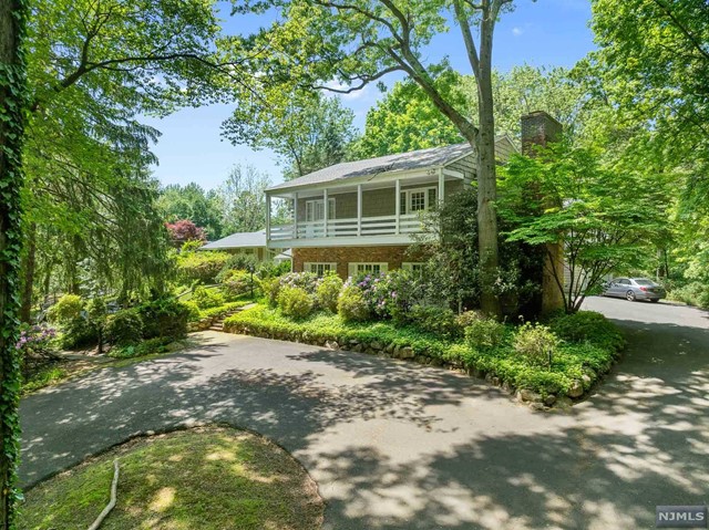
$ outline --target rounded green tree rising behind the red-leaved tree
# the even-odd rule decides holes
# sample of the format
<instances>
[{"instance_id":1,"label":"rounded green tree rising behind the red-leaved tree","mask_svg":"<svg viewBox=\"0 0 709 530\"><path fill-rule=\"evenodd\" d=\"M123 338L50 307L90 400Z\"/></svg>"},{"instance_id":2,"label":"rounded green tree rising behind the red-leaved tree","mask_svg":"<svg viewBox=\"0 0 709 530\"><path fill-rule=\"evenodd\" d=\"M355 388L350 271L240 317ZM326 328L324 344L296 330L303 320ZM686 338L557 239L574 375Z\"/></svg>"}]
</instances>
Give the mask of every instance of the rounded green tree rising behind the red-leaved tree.
<instances>
[{"instance_id":1,"label":"rounded green tree rising behind the red-leaved tree","mask_svg":"<svg viewBox=\"0 0 709 530\"><path fill-rule=\"evenodd\" d=\"M161 189L155 207L168 222L188 219L204 228L208 239L222 237L222 210L217 195L214 191L205 193L195 183L165 186Z\"/></svg>"}]
</instances>

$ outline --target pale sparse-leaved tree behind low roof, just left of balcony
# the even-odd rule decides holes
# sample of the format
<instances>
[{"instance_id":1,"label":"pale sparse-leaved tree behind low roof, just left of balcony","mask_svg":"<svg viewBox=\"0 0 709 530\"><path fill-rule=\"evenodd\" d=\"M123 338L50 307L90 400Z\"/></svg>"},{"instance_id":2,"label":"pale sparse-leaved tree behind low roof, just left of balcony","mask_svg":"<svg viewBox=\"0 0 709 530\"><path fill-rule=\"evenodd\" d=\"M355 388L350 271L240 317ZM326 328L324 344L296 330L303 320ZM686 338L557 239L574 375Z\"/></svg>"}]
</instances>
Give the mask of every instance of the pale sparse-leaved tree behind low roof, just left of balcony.
<instances>
[{"instance_id":1,"label":"pale sparse-leaved tree behind low roof, just left of balcony","mask_svg":"<svg viewBox=\"0 0 709 530\"><path fill-rule=\"evenodd\" d=\"M254 232L266 227L266 188L268 175L254 166L234 166L217 190L224 211L225 232Z\"/></svg>"}]
</instances>

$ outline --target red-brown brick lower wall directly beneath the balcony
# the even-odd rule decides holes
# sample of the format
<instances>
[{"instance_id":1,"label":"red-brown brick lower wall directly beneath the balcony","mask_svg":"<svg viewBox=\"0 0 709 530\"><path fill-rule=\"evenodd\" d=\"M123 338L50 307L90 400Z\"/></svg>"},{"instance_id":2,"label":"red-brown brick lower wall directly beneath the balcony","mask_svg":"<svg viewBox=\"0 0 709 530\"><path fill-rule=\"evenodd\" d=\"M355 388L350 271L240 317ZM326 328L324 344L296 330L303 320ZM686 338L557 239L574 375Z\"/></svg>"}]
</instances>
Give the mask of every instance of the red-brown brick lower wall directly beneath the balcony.
<instances>
[{"instance_id":1,"label":"red-brown brick lower wall directly beneath the balcony","mask_svg":"<svg viewBox=\"0 0 709 530\"><path fill-rule=\"evenodd\" d=\"M349 263L388 263L389 270L400 269L404 261L417 261L407 254L408 246L392 247L319 247L292 249L292 270L302 272L304 263L337 263L337 273L347 279Z\"/></svg>"}]
</instances>

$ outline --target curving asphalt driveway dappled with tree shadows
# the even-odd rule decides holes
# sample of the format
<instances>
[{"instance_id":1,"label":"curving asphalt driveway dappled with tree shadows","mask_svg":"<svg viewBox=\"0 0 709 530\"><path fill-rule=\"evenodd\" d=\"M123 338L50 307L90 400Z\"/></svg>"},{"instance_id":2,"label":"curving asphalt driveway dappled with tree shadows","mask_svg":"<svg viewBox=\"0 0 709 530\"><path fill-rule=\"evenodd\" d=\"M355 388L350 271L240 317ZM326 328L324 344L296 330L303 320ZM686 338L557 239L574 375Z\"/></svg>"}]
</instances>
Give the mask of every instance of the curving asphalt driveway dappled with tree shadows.
<instances>
[{"instance_id":1,"label":"curving asphalt driveway dappled with tree shadows","mask_svg":"<svg viewBox=\"0 0 709 530\"><path fill-rule=\"evenodd\" d=\"M709 501L709 313L593 299L630 346L568 414L444 370L219 333L28 397L31 485L131 435L226 422L291 451L326 528L654 528ZM59 530L59 529L58 529Z\"/></svg>"}]
</instances>

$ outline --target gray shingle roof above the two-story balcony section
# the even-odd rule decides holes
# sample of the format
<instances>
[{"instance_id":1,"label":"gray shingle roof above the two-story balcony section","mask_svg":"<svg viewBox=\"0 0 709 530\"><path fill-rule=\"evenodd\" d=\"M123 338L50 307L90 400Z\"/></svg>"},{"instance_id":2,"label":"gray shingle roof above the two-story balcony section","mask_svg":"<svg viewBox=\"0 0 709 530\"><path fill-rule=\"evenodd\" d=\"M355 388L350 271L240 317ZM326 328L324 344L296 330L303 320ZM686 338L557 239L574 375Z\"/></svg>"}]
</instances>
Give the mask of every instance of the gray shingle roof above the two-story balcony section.
<instances>
[{"instance_id":1,"label":"gray shingle roof above the two-story balcony section","mask_svg":"<svg viewBox=\"0 0 709 530\"><path fill-rule=\"evenodd\" d=\"M326 167L287 183L271 186L268 190L295 188L312 184L330 183L345 178L364 177L378 173L395 172L403 169L418 169L449 164L465 154L472 153L470 144L455 144L444 147L399 153L397 155L380 156L366 160L343 162L335 166Z\"/></svg>"}]
</instances>

